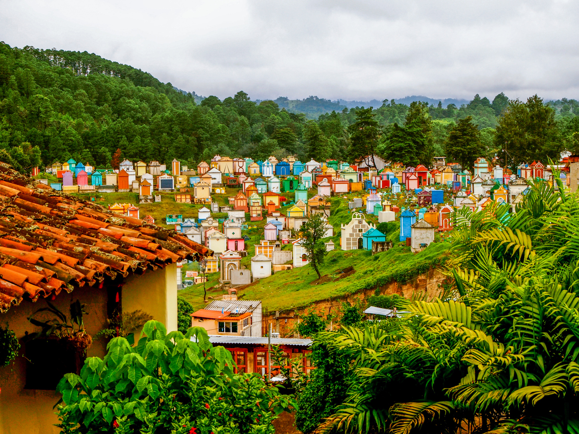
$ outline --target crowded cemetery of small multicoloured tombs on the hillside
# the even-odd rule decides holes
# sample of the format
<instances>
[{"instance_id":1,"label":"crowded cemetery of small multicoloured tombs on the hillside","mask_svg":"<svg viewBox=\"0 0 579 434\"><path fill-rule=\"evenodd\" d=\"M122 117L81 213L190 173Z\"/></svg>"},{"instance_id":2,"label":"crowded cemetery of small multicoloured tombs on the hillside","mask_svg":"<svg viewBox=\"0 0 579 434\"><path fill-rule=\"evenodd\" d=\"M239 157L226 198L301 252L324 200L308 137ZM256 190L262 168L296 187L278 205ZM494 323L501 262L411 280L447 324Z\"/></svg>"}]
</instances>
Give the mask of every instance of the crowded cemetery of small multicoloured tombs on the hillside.
<instances>
[{"instance_id":1,"label":"crowded cemetery of small multicoloured tombs on the hillside","mask_svg":"<svg viewBox=\"0 0 579 434\"><path fill-rule=\"evenodd\" d=\"M195 168L176 159L171 167L158 161L124 160L118 168L97 170L71 159L47 167L45 176L50 180L40 181L87 200L104 201L113 213L170 227L214 252L202 264L185 261L178 266L179 295L196 309L211 300L261 296L264 312L275 311L279 317L286 311L285 323L289 315L290 325L296 319L292 309L352 293L344 288L336 292L340 285L334 282L329 292L276 301L274 293L287 288L274 282L285 281L286 273L290 282L296 280L292 277L297 269L309 263L300 228L312 214L321 214L326 221L325 245L332 260L340 258L340 265L349 262L342 269L359 270L367 256L339 255L353 251L386 255L395 247L420 258L420 252L437 242L442 256L456 209L475 211L498 203L514 212L529 180L551 179L554 171L571 190L577 187L570 182L577 165L573 157L563 158L555 167L540 161L521 164L516 173L482 157L474 161L472 173L444 157L435 157L431 167L404 167L375 156L374 168L369 167L371 161L302 163L292 156L253 161L215 155ZM123 203L123 197L134 202ZM381 232L380 223L390 223L382 226L388 230ZM209 289L209 300L199 285ZM271 296L262 290L266 287ZM291 326L282 331L293 336ZM238 333L244 335L241 329Z\"/></svg>"}]
</instances>

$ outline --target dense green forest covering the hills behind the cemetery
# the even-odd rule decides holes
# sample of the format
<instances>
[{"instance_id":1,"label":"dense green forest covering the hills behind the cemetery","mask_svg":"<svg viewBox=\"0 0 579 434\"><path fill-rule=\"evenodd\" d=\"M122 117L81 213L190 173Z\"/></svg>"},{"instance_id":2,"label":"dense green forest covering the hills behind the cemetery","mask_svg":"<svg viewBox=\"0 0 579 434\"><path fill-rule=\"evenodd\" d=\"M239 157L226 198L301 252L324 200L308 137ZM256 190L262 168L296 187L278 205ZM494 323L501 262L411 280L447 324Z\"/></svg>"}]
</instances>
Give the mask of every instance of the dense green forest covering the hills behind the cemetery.
<instances>
[{"instance_id":1,"label":"dense green forest covering the hills behind the cemetery","mask_svg":"<svg viewBox=\"0 0 579 434\"><path fill-rule=\"evenodd\" d=\"M576 100L510 101L503 93L460 107L252 101L243 91L201 98L96 54L0 43L0 157L22 171L70 157L106 167L118 149L134 161L188 164L217 153L346 161L375 153L405 164L447 155L464 165L477 156L512 165L579 150L578 115Z\"/></svg>"}]
</instances>

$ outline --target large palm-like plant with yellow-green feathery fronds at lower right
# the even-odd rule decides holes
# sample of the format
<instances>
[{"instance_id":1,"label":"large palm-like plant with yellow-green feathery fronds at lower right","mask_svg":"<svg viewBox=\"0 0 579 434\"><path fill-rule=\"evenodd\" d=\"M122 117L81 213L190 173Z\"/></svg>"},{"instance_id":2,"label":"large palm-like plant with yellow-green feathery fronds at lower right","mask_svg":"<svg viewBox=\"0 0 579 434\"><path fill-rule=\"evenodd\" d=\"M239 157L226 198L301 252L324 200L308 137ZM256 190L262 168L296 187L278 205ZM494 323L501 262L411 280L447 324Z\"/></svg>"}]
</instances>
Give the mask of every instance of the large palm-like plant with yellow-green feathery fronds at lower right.
<instances>
[{"instance_id":1,"label":"large palm-like plant with yellow-green feathery fronds at lower right","mask_svg":"<svg viewBox=\"0 0 579 434\"><path fill-rule=\"evenodd\" d=\"M354 360L318 432L579 432L579 200L531 182L514 213L456 213L448 299L406 319L322 333Z\"/></svg>"}]
</instances>

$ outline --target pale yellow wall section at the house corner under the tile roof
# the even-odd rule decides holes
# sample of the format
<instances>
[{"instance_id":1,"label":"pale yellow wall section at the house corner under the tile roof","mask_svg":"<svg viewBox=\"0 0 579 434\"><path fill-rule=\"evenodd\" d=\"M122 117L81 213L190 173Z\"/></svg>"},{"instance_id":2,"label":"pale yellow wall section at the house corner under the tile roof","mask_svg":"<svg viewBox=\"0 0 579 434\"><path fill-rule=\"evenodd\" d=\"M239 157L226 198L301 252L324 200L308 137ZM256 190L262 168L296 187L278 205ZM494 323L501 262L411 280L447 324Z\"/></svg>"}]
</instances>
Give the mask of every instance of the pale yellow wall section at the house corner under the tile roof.
<instances>
[{"instance_id":1,"label":"pale yellow wall section at the house corner under the tile roof","mask_svg":"<svg viewBox=\"0 0 579 434\"><path fill-rule=\"evenodd\" d=\"M140 309L162 322L168 332L177 330L177 264L128 277L122 304L124 312Z\"/></svg>"}]
</instances>

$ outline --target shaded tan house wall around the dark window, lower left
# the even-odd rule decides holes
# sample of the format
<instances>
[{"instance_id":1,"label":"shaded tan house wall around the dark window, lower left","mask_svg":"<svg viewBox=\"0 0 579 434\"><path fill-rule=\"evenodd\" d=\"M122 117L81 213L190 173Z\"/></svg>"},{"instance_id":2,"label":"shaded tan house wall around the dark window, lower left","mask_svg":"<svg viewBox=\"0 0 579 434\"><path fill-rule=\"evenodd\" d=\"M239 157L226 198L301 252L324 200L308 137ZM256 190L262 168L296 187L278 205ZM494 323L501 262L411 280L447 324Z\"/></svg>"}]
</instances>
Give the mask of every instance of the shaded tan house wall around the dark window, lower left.
<instances>
[{"instance_id":1,"label":"shaded tan house wall around the dark window, lower left","mask_svg":"<svg viewBox=\"0 0 579 434\"><path fill-rule=\"evenodd\" d=\"M107 291L90 288L78 288L68 294L61 292L51 302L61 311L68 314L71 302L80 300L86 304L85 328L94 336L107 326ZM25 359L24 359L24 332L36 332L39 328L32 326L27 317L34 314L39 308L46 307L45 301L36 303L23 301L20 306L12 307L6 314L0 314L0 322L8 323L20 340L19 356L9 365L0 367L0 433L2 434L51 434L60 433L54 424L58 419L54 414L53 406L60 399L60 393L47 390L24 389ZM175 303L175 308L176 308ZM35 315L35 318L46 320L53 318L47 312ZM105 355L106 343L104 340L93 341L87 351L87 356ZM49 357L50 355L47 355Z\"/></svg>"}]
</instances>

